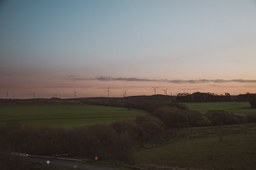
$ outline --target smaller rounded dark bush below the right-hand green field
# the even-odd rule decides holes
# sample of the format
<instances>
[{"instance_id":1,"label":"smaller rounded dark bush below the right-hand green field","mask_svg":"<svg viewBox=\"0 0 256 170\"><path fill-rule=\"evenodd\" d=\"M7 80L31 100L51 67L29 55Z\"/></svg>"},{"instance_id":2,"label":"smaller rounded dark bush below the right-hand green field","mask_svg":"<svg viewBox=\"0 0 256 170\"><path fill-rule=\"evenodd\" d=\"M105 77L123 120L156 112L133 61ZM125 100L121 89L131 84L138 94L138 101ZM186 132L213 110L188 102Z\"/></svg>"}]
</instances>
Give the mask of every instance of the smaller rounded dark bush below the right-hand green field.
<instances>
[{"instance_id":1,"label":"smaller rounded dark bush below the right-hand green field","mask_svg":"<svg viewBox=\"0 0 256 170\"><path fill-rule=\"evenodd\" d=\"M205 113L205 116L210 120L212 125L246 123L246 119L243 116L235 115L225 110L211 110Z\"/></svg>"}]
</instances>

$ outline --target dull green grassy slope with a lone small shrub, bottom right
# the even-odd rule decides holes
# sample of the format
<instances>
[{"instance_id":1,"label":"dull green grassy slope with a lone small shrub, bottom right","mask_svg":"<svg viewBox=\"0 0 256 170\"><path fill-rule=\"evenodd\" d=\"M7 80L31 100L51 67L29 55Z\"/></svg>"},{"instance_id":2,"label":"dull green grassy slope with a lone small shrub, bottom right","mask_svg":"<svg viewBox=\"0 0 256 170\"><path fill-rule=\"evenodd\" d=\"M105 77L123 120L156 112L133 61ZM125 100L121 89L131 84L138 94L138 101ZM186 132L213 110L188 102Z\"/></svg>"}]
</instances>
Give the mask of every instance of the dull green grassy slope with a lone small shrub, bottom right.
<instances>
[{"instance_id":1,"label":"dull green grassy slope with a lone small shrub, bottom right","mask_svg":"<svg viewBox=\"0 0 256 170\"><path fill-rule=\"evenodd\" d=\"M256 169L256 124L189 128L187 137L137 151L137 163L209 169ZM218 135L222 132L222 140Z\"/></svg>"}]
</instances>

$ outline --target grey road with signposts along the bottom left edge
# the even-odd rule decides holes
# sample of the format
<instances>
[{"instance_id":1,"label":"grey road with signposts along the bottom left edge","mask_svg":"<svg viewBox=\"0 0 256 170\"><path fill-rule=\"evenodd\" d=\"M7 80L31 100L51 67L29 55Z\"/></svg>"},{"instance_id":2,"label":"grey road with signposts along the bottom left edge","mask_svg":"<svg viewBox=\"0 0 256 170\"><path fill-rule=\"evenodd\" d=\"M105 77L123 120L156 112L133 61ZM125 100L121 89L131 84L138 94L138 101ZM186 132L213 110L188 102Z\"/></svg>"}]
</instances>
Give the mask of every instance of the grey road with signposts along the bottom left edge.
<instances>
[{"instance_id":1,"label":"grey road with signposts along the bottom left edge","mask_svg":"<svg viewBox=\"0 0 256 170\"><path fill-rule=\"evenodd\" d=\"M90 164L82 164L80 162L69 162L69 161L63 161L63 160L57 160L57 159L42 159L42 158L28 158L31 162L40 163L47 165L46 161L49 160L49 166L51 165L58 165L63 167L72 167L74 168L74 165L77 165L77 168L79 169L86 169L86 170L118 170L117 168L113 167L104 167L104 166L97 166L97 165L90 165Z\"/></svg>"}]
</instances>

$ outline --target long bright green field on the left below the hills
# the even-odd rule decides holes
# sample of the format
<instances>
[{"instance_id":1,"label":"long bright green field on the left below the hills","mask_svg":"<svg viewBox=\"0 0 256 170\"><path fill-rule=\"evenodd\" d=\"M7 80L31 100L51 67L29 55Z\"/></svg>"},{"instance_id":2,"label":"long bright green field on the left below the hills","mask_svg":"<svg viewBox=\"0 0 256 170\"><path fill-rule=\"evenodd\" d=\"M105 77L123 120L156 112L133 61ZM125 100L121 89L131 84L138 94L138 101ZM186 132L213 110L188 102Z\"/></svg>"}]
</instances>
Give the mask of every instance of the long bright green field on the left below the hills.
<instances>
[{"instance_id":1,"label":"long bright green field on the left below the hills","mask_svg":"<svg viewBox=\"0 0 256 170\"><path fill-rule=\"evenodd\" d=\"M147 113L142 110L93 105L0 106L0 124L24 123L70 128L93 124L110 124L145 114Z\"/></svg>"}]
</instances>

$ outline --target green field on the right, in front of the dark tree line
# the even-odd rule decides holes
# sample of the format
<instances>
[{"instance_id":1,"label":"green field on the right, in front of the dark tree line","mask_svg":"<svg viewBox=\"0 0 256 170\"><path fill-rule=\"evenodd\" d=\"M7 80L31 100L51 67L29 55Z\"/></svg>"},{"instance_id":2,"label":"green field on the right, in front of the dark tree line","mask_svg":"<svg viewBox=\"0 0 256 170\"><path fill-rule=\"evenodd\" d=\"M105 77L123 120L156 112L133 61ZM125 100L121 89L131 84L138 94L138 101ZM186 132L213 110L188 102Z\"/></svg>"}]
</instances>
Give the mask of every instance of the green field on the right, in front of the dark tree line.
<instances>
[{"instance_id":1,"label":"green field on the right, in front of the dark tree line","mask_svg":"<svg viewBox=\"0 0 256 170\"><path fill-rule=\"evenodd\" d=\"M226 110L238 115L256 114L256 109L251 108L248 102L204 102L184 103L189 110L198 110L206 113L209 110Z\"/></svg>"}]
</instances>

